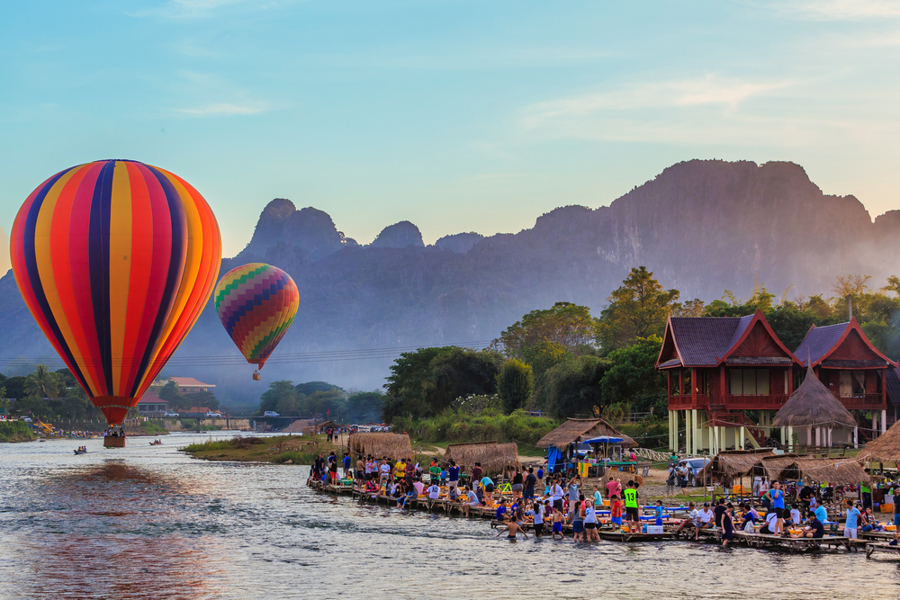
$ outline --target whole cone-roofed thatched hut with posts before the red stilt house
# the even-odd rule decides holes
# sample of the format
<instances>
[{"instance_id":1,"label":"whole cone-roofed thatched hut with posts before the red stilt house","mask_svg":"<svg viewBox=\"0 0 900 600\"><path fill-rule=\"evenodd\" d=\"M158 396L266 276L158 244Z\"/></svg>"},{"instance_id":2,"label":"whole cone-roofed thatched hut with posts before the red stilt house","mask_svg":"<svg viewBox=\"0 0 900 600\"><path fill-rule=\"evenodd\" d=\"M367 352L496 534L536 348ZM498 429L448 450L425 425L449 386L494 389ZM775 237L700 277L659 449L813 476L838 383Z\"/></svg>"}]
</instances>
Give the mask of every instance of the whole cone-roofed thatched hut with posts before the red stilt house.
<instances>
[{"instance_id":1,"label":"whole cone-roofed thatched hut with posts before the red stilt house","mask_svg":"<svg viewBox=\"0 0 900 600\"><path fill-rule=\"evenodd\" d=\"M790 440L793 440L794 429L806 429L806 445L810 446L830 447L835 429L843 434L844 440L852 435L854 445L859 434L856 419L841 404L841 400L834 398L832 392L819 381L811 366L806 367L806 379L776 413L772 425L788 427Z\"/></svg>"}]
</instances>

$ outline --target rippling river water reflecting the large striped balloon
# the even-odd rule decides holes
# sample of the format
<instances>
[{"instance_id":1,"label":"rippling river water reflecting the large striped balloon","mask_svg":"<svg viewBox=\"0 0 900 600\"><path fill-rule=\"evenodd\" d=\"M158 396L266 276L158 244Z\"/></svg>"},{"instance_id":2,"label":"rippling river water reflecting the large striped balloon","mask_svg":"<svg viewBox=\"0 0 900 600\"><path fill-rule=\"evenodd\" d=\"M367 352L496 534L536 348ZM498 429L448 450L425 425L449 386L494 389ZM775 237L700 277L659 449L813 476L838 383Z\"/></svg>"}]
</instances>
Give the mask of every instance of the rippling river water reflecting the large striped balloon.
<instances>
[{"instance_id":1,"label":"rippling river water reflecting the large striped balloon","mask_svg":"<svg viewBox=\"0 0 900 600\"><path fill-rule=\"evenodd\" d=\"M499 540L318 494L307 467L177 452L209 436L0 444L0 598L900 596L900 561L865 553Z\"/></svg>"}]
</instances>

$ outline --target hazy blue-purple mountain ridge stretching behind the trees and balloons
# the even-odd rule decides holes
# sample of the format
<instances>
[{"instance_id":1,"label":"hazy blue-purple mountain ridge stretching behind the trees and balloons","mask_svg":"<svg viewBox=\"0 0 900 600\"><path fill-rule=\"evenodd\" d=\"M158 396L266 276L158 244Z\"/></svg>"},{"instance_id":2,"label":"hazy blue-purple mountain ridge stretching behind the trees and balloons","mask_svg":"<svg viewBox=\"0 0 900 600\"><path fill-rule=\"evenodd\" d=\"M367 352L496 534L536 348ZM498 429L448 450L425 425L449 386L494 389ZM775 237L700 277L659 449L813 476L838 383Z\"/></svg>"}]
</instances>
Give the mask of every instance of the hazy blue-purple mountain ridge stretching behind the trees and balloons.
<instances>
[{"instance_id":1,"label":"hazy blue-purple mountain ridge stretching behind the trees and balloons","mask_svg":"<svg viewBox=\"0 0 900 600\"><path fill-rule=\"evenodd\" d=\"M262 261L297 282L301 308L275 358L489 340L527 311L558 300L599 314L609 292L639 264L678 288L683 300L715 300L725 289L746 298L754 274L779 295L793 286L789 298L828 296L839 274L870 274L879 285L900 273L898 250L900 210L873 222L855 197L822 193L800 166L691 160L607 207L565 206L517 234L451 234L429 246L409 221L361 246L328 213L275 199L247 247L222 261L222 273ZM0 307L0 357L53 355L12 273L0 279ZM176 356L220 354L237 350L210 304ZM257 399L266 381L277 379L374 389L390 363L273 362L262 384L250 381L250 367L214 361L165 372L216 383L227 402Z\"/></svg>"}]
</instances>

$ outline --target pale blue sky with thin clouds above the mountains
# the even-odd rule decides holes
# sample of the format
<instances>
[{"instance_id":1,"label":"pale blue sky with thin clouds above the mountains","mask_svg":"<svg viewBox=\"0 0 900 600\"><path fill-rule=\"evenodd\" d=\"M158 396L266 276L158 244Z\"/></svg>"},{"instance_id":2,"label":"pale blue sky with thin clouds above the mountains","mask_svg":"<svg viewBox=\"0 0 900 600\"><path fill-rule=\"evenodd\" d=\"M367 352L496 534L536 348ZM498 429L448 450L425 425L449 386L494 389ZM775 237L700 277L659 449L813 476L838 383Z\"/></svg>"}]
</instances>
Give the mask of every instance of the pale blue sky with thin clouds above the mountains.
<instances>
[{"instance_id":1,"label":"pale blue sky with thin clouds above the mountains","mask_svg":"<svg viewBox=\"0 0 900 600\"><path fill-rule=\"evenodd\" d=\"M191 182L226 255L275 197L433 242L690 158L791 160L874 217L900 208L898 50L889 1L6 3L0 227L110 157Z\"/></svg>"}]
</instances>

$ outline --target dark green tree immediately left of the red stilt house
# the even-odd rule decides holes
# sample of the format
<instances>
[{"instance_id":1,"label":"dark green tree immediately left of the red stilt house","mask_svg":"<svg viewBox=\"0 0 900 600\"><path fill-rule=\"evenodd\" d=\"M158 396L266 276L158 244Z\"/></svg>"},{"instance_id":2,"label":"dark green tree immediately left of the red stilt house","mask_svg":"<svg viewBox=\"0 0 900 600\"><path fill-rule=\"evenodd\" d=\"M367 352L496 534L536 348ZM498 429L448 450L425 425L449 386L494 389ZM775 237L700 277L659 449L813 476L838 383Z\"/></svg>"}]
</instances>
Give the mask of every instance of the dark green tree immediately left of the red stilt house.
<instances>
[{"instance_id":1,"label":"dark green tree immediately left of the red stilt house","mask_svg":"<svg viewBox=\"0 0 900 600\"><path fill-rule=\"evenodd\" d=\"M625 403L633 410L665 410L666 375L656 370L662 337L638 337L634 345L607 355L610 366L603 375L601 388L608 404Z\"/></svg>"}]
</instances>

